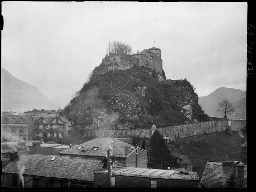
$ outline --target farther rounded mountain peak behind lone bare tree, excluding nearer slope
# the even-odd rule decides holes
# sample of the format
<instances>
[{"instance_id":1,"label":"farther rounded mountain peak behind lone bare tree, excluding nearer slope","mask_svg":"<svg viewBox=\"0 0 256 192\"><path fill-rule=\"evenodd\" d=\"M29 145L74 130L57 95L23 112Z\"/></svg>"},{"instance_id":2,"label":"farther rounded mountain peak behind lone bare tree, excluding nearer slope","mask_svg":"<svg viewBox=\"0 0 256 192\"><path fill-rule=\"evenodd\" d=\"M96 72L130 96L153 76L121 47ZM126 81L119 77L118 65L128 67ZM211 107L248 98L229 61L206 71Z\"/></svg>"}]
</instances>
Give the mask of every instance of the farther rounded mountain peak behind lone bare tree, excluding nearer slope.
<instances>
[{"instance_id":1,"label":"farther rounded mountain peak behind lone bare tree, excluding nearer slope","mask_svg":"<svg viewBox=\"0 0 256 192\"><path fill-rule=\"evenodd\" d=\"M245 97L246 91L221 87L207 96L199 97L199 104L202 106L205 113L207 113L209 116L222 117L221 114L216 112L216 108L219 102L221 102L223 99L228 99L231 103L234 103ZM244 107L246 110L246 105Z\"/></svg>"}]
</instances>

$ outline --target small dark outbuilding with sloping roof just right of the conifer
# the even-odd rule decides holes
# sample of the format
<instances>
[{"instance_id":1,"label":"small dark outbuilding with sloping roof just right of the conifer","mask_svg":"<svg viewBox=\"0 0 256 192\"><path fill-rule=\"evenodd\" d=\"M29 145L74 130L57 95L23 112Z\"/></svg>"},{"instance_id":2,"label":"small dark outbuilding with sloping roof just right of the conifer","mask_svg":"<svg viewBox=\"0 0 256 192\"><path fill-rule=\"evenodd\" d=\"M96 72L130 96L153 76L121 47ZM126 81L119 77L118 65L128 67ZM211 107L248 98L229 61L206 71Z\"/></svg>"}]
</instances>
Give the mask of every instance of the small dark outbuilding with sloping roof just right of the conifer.
<instances>
[{"instance_id":1,"label":"small dark outbuilding with sloping roof just right of the conifer","mask_svg":"<svg viewBox=\"0 0 256 192\"><path fill-rule=\"evenodd\" d=\"M174 157L174 167L185 168L186 171L193 171L193 163L187 156L175 152L171 152L171 156Z\"/></svg>"}]
</instances>

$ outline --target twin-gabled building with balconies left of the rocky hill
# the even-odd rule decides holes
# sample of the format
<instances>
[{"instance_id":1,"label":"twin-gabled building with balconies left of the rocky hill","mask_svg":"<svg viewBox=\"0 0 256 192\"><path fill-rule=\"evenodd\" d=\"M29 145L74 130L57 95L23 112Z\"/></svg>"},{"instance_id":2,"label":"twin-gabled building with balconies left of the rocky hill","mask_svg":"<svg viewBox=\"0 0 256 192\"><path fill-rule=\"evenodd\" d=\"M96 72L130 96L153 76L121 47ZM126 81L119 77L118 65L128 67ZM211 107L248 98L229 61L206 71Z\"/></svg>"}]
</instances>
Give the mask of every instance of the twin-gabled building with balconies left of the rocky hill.
<instances>
[{"instance_id":1,"label":"twin-gabled building with balconies left of the rocky hill","mask_svg":"<svg viewBox=\"0 0 256 192\"><path fill-rule=\"evenodd\" d=\"M33 139L63 139L68 135L68 117L32 116Z\"/></svg>"}]
</instances>

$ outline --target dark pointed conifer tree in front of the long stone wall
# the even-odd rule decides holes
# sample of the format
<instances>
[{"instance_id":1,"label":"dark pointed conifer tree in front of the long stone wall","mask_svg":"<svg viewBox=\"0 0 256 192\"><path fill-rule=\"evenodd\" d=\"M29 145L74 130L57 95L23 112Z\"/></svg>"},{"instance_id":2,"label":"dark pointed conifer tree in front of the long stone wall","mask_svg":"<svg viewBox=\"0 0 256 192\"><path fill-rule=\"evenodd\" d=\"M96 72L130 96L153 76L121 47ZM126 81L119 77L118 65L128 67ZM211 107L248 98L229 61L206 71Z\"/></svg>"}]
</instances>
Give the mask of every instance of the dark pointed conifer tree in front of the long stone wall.
<instances>
[{"instance_id":1,"label":"dark pointed conifer tree in front of the long stone wall","mask_svg":"<svg viewBox=\"0 0 256 192\"><path fill-rule=\"evenodd\" d=\"M150 156L152 157L153 160L155 160L156 163L161 162L161 168L162 163L164 161L172 161L170 150L168 149L168 146L165 143L165 139L163 139L163 135L160 134L158 130L155 130L155 132L150 138L150 147Z\"/></svg>"}]
</instances>

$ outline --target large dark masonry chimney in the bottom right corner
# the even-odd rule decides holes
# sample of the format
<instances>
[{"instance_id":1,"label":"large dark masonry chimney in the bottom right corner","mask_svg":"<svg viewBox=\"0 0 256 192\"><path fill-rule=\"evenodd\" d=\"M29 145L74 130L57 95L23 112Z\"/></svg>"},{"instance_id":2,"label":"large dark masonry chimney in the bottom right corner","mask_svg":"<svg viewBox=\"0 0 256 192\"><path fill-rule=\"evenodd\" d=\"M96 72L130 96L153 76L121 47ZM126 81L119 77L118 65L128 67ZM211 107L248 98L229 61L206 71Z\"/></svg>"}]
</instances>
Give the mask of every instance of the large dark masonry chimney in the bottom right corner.
<instances>
[{"instance_id":1,"label":"large dark masonry chimney in the bottom right corner","mask_svg":"<svg viewBox=\"0 0 256 192\"><path fill-rule=\"evenodd\" d=\"M239 161L222 163L222 184L225 189L242 189L244 182L244 164Z\"/></svg>"}]
</instances>

